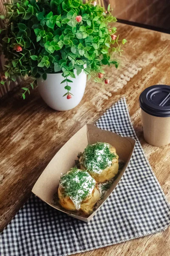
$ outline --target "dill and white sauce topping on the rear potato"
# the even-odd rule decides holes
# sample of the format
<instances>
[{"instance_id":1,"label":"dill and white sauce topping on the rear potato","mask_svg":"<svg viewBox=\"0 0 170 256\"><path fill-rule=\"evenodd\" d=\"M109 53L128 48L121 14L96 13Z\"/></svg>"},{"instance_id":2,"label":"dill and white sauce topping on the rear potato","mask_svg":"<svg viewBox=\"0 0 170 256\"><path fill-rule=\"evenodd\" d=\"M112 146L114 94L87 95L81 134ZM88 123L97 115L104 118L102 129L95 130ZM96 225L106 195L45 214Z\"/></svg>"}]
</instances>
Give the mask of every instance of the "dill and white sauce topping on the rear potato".
<instances>
[{"instance_id":1,"label":"dill and white sauce topping on the rear potato","mask_svg":"<svg viewBox=\"0 0 170 256\"><path fill-rule=\"evenodd\" d=\"M88 145L83 152L83 166L90 172L94 170L99 172L111 166L113 158L116 158L116 154L111 153L110 147L108 143L101 142Z\"/></svg>"}]
</instances>

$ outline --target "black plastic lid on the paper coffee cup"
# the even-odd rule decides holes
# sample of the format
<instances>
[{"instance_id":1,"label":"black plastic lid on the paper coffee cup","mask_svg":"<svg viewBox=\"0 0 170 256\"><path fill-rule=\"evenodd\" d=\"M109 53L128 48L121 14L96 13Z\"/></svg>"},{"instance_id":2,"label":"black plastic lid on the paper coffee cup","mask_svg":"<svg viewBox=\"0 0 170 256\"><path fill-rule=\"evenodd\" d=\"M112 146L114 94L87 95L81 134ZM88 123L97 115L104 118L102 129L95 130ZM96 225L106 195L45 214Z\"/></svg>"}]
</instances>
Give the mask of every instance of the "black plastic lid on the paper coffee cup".
<instances>
[{"instance_id":1,"label":"black plastic lid on the paper coffee cup","mask_svg":"<svg viewBox=\"0 0 170 256\"><path fill-rule=\"evenodd\" d=\"M142 110L152 116L170 116L170 85L158 84L146 88L139 96Z\"/></svg>"}]
</instances>

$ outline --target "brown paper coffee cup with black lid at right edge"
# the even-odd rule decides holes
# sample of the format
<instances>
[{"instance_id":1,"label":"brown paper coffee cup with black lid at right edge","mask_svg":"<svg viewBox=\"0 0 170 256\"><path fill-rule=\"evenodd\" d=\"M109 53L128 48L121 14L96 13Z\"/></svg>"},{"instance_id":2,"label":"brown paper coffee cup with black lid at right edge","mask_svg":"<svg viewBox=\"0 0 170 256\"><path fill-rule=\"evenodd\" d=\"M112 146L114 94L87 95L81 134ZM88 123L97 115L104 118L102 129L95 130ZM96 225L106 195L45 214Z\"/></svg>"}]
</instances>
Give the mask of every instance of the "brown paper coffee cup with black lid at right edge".
<instances>
[{"instance_id":1,"label":"brown paper coffee cup with black lid at right edge","mask_svg":"<svg viewBox=\"0 0 170 256\"><path fill-rule=\"evenodd\" d=\"M170 86L153 85L139 96L144 139L153 146L170 143Z\"/></svg>"}]
</instances>

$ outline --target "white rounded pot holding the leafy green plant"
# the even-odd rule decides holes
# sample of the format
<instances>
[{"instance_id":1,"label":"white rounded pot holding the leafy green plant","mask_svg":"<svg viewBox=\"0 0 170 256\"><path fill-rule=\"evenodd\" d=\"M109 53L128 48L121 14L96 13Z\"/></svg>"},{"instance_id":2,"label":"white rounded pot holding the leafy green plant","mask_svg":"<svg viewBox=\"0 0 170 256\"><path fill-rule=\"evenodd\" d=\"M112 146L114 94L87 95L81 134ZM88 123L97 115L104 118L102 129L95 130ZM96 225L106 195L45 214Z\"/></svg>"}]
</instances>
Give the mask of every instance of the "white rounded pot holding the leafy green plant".
<instances>
[{"instance_id":1,"label":"white rounded pot holding the leafy green plant","mask_svg":"<svg viewBox=\"0 0 170 256\"><path fill-rule=\"evenodd\" d=\"M85 92L87 76L83 70L79 76L74 70L74 75L76 78L68 76L68 79L73 81L73 83L68 83L71 86L70 92L74 95L71 99L67 99L67 96L63 97L67 90L64 88L66 83L61 84L65 79L62 73L47 74L45 81L38 79L38 90L49 107L58 111L66 111L75 108L79 104Z\"/></svg>"}]
</instances>

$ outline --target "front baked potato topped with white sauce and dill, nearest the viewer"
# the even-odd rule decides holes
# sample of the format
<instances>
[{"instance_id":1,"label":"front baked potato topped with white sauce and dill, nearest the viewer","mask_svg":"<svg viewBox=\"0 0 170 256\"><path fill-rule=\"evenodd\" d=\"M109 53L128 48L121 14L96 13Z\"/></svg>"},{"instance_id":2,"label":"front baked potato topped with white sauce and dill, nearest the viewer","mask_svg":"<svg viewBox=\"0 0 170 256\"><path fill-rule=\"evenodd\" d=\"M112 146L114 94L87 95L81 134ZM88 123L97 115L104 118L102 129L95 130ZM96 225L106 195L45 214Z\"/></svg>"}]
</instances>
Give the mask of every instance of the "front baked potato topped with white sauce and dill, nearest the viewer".
<instances>
[{"instance_id":1,"label":"front baked potato topped with white sauce and dill, nearest the viewer","mask_svg":"<svg viewBox=\"0 0 170 256\"><path fill-rule=\"evenodd\" d=\"M60 178L58 196L63 208L89 215L99 201L100 192L96 180L88 172L72 168Z\"/></svg>"}]
</instances>

